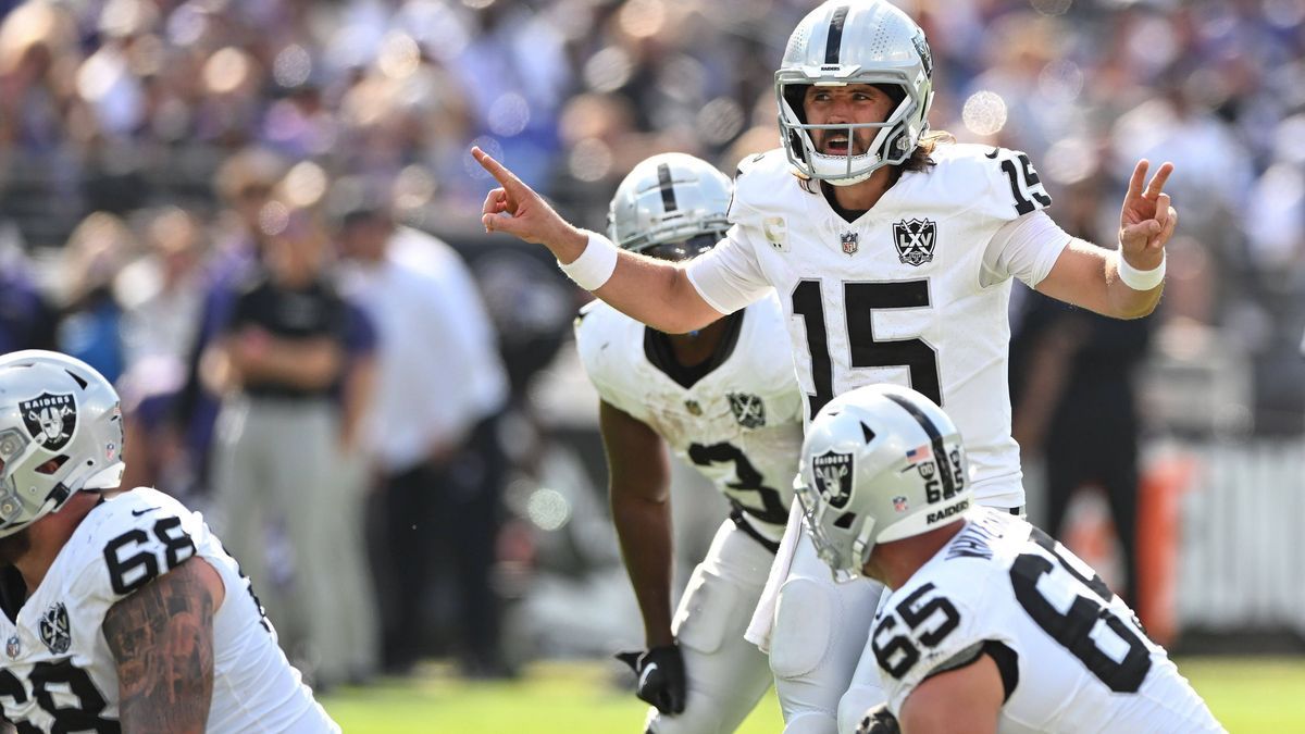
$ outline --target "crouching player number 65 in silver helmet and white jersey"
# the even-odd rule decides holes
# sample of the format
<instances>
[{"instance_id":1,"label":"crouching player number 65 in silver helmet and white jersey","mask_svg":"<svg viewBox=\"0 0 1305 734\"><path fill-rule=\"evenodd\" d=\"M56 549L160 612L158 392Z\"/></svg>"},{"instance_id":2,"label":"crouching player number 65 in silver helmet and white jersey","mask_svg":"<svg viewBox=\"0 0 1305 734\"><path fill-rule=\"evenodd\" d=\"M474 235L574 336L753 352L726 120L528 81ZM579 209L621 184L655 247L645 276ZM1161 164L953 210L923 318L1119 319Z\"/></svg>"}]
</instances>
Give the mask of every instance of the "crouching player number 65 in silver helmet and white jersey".
<instances>
[{"instance_id":1,"label":"crouching player number 65 in silver helmet and white jersey","mask_svg":"<svg viewBox=\"0 0 1305 734\"><path fill-rule=\"evenodd\" d=\"M898 385L843 393L806 431L797 498L820 558L890 589L872 635L887 704L860 731L1221 731L1091 567L974 505L960 438Z\"/></svg>"}]
</instances>

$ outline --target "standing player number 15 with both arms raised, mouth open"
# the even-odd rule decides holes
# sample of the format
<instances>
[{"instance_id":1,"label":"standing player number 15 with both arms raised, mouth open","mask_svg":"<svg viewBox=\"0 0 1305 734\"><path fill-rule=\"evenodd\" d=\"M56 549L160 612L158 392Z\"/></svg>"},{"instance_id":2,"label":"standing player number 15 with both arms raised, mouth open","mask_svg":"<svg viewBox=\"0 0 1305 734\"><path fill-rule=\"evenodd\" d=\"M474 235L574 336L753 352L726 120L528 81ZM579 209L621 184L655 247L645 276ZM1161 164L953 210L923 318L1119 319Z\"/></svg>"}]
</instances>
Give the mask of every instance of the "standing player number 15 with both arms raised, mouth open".
<instances>
[{"instance_id":1,"label":"standing player number 15 with both arms raised, mouth open","mask_svg":"<svg viewBox=\"0 0 1305 734\"><path fill-rule=\"evenodd\" d=\"M1173 166L1160 166L1150 182L1146 161L1134 168L1117 251L1073 239L1043 212L1051 197L1023 153L928 135L932 74L924 31L889 3L830 0L812 10L775 74L782 148L744 162L727 238L686 265L620 252L573 227L474 149L500 183L485 197L482 223L545 244L582 287L667 333L698 329L774 287L808 417L859 385L910 384L957 417L977 502L1018 513L1024 490L1010 435L1010 279L1108 316L1150 313L1177 225L1163 192ZM776 582L749 628L749 639L770 643L776 679L812 654L780 650L827 648L801 627L833 603L806 549L786 535ZM870 619L843 623L867 631ZM790 644L795 636L800 645ZM855 727L872 699L882 700L868 646L852 678L837 705L826 699L793 708L782 696L786 731Z\"/></svg>"}]
</instances>

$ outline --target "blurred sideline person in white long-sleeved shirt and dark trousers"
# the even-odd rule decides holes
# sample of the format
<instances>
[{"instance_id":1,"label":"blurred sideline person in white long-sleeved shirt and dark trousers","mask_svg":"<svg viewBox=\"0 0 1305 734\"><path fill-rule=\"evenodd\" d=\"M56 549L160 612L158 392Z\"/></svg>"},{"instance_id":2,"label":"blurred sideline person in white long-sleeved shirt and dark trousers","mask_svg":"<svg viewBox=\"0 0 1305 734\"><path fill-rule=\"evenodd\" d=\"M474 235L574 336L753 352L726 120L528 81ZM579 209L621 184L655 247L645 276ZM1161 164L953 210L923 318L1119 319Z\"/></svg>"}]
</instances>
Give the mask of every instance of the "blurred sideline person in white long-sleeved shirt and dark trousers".
<instances>
[{"instance_id":1,"label":"blurred sideline person in white long-sleeved shirt and dark trousers","mask_svg":"<svg viewBox=\"0 0 1305 734\"><path fill-rule=\"evenodd\" d=\"M471 272L445 243L395 226L389 191L333 192L346 293L376 324L376 401L363 443L380 474L372 547L382 663L403 674L432 641L432 573L453 575L459 663L510 674L500 649L493 563L505 477L496 415L508 398L497 336Z\"/></svg>"}]
</instances>

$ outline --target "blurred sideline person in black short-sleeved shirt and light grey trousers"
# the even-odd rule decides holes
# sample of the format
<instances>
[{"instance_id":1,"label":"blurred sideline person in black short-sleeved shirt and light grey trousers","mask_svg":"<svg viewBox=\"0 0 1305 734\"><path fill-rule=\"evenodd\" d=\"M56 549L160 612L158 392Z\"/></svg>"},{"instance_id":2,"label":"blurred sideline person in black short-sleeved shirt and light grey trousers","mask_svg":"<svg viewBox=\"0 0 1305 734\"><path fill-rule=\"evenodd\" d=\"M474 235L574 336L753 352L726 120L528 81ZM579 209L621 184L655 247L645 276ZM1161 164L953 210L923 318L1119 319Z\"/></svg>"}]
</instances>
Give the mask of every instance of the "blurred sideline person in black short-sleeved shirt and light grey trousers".
<instances>
[{"instance_id":1,"label":"blurred sideline person in black short-sleeved shirt and light grey trousers","mask_svg":"<svg viewBox=\"0 0 1305 734\"><path fill-rule=\"evenodd\" d=\"M268 589L282 645L326 687L350 675L335 585L350 569L333 563L333 546L348 509L334 469L354 428L331 393L346 375L348 308L326 273L329 242L312 212L273 199L262 227L262 261L204 355L205 379L223 394L213 500L231 552ZM269 562L277 530L288 577Z\"/></svg>"}]
</instances>

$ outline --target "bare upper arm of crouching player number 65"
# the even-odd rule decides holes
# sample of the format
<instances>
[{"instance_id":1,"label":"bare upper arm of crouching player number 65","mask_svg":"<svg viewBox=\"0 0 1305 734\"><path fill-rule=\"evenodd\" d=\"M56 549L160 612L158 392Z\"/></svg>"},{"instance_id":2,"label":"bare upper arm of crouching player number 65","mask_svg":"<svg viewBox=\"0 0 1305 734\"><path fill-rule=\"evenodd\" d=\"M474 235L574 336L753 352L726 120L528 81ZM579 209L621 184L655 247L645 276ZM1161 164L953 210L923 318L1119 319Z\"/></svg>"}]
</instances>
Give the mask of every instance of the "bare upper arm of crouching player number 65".
<instances>
[{"instance_id":1,"label":"bare upper arm of crouching player number 65","mask_svg":"<svg viewBox=\"0 0 1305 734\"><path fill-rule=\"evenodd\" d=\"M997 663L981 654L964 667L925 678L902 704L898 721L907 734L993 734L1005 696Z\"/></svg>"}]
</instances>

